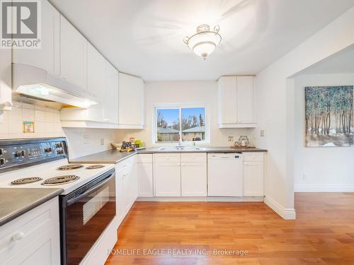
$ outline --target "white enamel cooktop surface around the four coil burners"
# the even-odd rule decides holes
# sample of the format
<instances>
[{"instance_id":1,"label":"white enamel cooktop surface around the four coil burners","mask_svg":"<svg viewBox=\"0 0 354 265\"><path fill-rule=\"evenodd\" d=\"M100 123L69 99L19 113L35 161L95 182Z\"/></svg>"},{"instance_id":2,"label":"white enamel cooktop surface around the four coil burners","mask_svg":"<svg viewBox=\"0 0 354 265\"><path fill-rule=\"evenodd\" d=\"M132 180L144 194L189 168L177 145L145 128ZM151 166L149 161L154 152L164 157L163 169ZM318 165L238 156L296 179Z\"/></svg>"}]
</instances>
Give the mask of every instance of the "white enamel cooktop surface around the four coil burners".
<instances>
[{"instance_id":1,"label":"white enamel cooktop surface around the four coil burners","mask_svg":"<svg viewBox=\"0 0 354 265\"><path fill-rule=\"evenodd\" d=\"M80 164L83 167L76 168L74 170L57 170L58 167L68 165L67 159L61 159L49 163L44 163L40 165L33 165L31 167L25 167L18 170L13 170L10 172L4 172L0 174L0 187L1 188L61 188L64 189L62 194L69 194L78 187L86 184L87 182L103 175L105 172L114 168L114 165L104 164L101 168L96 169L86 169L86 167L92 164ZM72 164L70 164L72 165ZM59 177L64 175L76 175L79 179L74 182L69 182L66 184L55 184L55 185L43 185L45 179L50 179L52 177ZM27 178L27 177L40 177L42 180L38 182L26 183L26 184L11 184L13 180Z\"/></svg>"}]
</instances>

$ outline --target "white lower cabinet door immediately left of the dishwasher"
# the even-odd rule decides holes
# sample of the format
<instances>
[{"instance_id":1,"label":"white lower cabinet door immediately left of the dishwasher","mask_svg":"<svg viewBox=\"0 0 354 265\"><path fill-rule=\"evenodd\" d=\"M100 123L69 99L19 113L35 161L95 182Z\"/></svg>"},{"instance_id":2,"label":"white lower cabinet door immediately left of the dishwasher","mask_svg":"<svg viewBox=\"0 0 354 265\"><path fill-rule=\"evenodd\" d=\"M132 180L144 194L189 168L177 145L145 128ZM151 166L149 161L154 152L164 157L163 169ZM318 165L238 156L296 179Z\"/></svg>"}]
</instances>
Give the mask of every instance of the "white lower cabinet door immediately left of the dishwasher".
<instances>
[{"instance_id":1,"label":"white lower cabinet door immediately left of the dishwasher","mask_svg":"<svg viewBox=\"0 0 354 265\"><path fill-rule=\"evenodd\" d=\"M207 154L181 154L181 195L207 196Z\"/></svg>"}]
</instances>

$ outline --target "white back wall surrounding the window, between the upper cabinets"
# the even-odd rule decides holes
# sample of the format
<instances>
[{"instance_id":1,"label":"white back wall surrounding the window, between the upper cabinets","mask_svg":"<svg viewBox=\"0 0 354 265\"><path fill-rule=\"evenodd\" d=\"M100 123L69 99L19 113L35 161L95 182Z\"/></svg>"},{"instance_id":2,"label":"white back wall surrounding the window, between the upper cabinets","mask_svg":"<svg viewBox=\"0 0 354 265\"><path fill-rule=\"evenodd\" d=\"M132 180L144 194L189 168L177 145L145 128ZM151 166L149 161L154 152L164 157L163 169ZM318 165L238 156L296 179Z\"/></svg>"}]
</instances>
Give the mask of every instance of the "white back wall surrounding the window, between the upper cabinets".
<instances>
[{"instance_id":1,"label":"white back wall surrounding the window, between the upper cabinets","mask_svg":"<svg viewBox=\"0 0 354 265\"><path fill-rule=\"evenodd\" d=\"M249 136L254 143L254 129L219 129L217 127L217 82L216 81L169 81L148 82L145 85L145 129L120 130L120 141L128 141L130 137L144 141L146 146L152 144L152 126L154 105L201 103L208 105L210 124L209 146L230 146L228 136L234 136L234 141L241 135ZM133 111L133 110L132 110ZM201 145L201 144L200 144Z\"/></svg>"}]
</instances>

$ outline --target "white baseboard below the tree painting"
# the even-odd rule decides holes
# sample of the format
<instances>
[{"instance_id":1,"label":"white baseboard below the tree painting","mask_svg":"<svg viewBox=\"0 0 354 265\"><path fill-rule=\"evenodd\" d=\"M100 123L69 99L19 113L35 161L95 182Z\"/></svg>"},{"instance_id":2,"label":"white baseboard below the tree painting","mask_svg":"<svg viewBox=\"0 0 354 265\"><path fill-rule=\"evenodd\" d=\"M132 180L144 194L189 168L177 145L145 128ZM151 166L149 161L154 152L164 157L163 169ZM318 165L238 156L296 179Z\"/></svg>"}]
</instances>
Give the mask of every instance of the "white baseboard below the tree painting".
<instances>
[{"instance_id":1,"label":"white baseboard below the tree painting","mask_svg":"<svg viewBox=\"0 0 354 265\"><path fill-rule=\"evenodd\" d=\"M295 184L295 192L354 192L354 184Z\"/></svg>"}]
</instances>

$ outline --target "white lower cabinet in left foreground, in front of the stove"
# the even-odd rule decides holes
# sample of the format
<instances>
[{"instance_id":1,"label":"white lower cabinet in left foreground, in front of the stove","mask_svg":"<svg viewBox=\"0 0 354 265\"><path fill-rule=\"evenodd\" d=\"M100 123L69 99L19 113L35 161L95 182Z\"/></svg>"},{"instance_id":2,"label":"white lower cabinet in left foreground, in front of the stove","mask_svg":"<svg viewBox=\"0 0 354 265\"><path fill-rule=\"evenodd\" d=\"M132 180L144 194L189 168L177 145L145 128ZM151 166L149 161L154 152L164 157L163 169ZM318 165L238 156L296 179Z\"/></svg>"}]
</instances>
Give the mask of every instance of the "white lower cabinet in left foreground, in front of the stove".
<instances>
[{"instance_id":1,"label":"white lower cabinet in left foreground, in front of the stove","mask_svg":"<svg viewBox=\"0 0 354 265\"><path fill-rule=\"evenodd\" d=\"M0 228L1 264L60 264L58 197Z\"/></svg>"}]
</instances>

